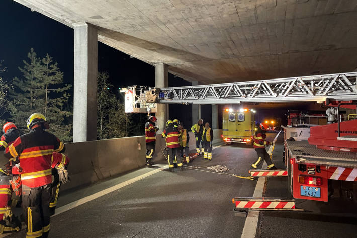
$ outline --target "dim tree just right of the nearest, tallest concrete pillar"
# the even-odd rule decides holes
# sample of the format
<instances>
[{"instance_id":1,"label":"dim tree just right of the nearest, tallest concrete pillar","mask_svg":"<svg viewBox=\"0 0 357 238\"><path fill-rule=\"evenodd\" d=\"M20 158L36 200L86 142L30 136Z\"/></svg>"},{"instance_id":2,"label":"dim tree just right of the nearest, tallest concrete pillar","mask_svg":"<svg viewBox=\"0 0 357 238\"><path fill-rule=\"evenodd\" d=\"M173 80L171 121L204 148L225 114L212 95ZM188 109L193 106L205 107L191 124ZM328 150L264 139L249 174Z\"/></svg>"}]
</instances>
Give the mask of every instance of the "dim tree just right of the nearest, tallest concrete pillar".
<instances>
[{"instance_id":1,"label":"dim tree just right of the nearest, tallest concrete pillar","mask_svg":"<svg viewBox=\"0 0 357 238\"><path fill-rule=\"evenodd\" d=\"M97 86L97 137L99 139L127 137L129 117L124 113L124 105L111 92L107 72L98 73Z\"/></svg>"}]
</instances>

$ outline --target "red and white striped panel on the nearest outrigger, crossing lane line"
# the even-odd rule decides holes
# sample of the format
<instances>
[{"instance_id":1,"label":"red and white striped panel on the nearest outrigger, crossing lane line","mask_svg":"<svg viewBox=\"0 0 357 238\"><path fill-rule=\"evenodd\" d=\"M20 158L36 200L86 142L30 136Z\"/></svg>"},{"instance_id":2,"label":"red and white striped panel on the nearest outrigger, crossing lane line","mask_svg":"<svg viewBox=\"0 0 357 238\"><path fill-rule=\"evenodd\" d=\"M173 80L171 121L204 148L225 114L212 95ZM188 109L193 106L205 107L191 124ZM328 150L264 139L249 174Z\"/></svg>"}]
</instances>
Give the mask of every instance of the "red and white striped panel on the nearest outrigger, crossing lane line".
<instances>
[{"instance_id":1,"label":"red and white striped panel on the nearest outrigger, crossing lane line","mask_svg":"<svg viewBox=\"0 0 357 238\"><path fill-rule=\"evenodd\" d=\"M295 202L289 201L235 201L236 208L255 209L295 209Z\"/></svg>"}]
</instances>

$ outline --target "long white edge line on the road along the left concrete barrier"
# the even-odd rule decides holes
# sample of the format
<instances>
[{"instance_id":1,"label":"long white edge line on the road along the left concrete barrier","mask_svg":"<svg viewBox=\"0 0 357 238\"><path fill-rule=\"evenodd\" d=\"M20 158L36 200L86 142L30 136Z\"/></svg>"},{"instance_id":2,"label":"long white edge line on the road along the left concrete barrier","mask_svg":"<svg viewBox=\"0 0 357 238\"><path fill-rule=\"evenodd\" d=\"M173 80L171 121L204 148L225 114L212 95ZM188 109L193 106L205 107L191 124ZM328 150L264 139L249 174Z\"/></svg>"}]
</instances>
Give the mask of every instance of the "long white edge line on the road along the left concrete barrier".
<instances>
[{"instance_id":1,"label":"long white edge line on the road along the left concrete barrier","mask_svg":"<svg viewBox=\"0 0 357 238\"><path fill-rule=\"evenodd\" d=\"M137 181L139 181L141 179L144 179L144 178L146 178L146 177L148 177L150 175L156 174L157 172L160 172L160 171L166 169L167 167L168 167L168 165L162 166L162 167L160 167L160 168L158 168L156 170L152 170L150 172L147 172L145 174L139 175L139 176L137 176L135 178L129 179L127 181L124 181L124 182L122 182L120 184L114 185L114 186L112 186L110 188L104 189L104 190L102 190L100 192L97 192L95 194L92 194L90 196L81 198L81 199L79 199L77 201L71 202L71 203L69 203L67 205L64 205L64 206L61 206L61 207L56 209L56 213L53 216L56 216L56 215L61 214L63 212L66 212L66 211L68 211L68 210L70 210L72 208L75 208L75 207L80 206L80 205L82 205L84 203L90 202L90 201L92 201L94 199L97 199L99 197L102 197L102 196L104 196L104 195L106 195L108 193L111 193L111 192L113 192L115 190L123 188L123 187L125 187L125 186L127 186L129 184L137 182Z\"/></svg>"}]
</instances>

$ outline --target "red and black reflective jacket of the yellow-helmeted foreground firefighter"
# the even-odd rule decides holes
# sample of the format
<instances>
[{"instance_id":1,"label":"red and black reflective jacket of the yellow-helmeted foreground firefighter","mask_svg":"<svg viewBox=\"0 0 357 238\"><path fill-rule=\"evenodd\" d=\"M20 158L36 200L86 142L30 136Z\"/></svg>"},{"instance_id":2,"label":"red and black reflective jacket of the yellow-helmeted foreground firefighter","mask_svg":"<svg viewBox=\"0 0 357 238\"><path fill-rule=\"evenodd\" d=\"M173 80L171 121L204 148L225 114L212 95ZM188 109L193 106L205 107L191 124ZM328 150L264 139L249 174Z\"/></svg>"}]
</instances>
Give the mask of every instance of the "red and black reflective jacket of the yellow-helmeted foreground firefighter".
<instances>
[{"instance_id":1,"label":"red and black reflective jacket of the yellow-helmeted foreground firefighter","mask_svg":"<svg viewBox=\"0 0 357 238\"><path fill-rule=\"evenodd\" d=\"M5 156L19 156L22 168L22 184L30 188L52 183L52 153L64 150L64 144L57 137L41 127L18 137L5 150Z\"/></svg>"}]
</instances>

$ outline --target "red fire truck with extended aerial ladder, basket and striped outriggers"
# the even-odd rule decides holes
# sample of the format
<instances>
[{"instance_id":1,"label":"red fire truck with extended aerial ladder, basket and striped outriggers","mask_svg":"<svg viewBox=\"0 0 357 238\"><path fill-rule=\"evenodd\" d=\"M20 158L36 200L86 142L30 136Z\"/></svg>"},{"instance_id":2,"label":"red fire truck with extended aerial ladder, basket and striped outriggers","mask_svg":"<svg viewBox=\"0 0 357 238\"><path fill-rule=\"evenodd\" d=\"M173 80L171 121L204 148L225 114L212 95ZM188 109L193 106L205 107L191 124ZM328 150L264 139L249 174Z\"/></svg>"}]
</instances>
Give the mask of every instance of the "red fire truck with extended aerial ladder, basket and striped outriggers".
<instances>
[{"instance_id":1,"label":"red fire truck with extended aerial ladder, basket and striped outriggers","mask_svg":"<svg viewBox=\"0 0 357 238\"><path fill-rule=\"evenodd\" d=\"M292 198L235 197L234 209L301 210L296 200L328 201L330 180L354 182L348 196L357 198L357 120L353 120L355 114L347 121L338 119L341 108L356 109L357 72L169 88L131 86L124 90L132 97L133 112L154 112L157 103L324 102L335 108L331 111L337 114L336 123L312 127L308 141L285 140L285 169L250 171L253 177L288 177Z\"/></svg>"}]
</instances>

